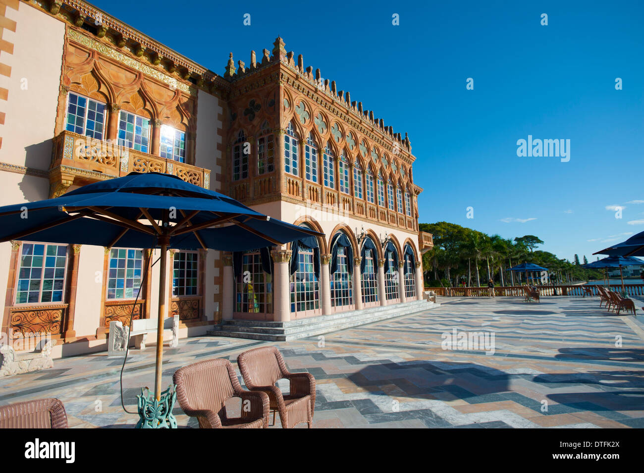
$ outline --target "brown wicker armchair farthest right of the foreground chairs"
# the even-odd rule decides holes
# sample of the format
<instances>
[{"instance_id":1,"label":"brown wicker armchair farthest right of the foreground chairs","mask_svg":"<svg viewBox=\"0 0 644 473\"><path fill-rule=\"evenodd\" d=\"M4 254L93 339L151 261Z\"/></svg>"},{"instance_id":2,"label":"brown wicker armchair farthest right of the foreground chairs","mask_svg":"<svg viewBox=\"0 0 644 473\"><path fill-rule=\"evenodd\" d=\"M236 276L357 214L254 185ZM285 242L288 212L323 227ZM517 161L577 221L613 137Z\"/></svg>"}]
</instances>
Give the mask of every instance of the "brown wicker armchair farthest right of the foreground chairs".
<instances>
[{"instance_id":1,"label":"brown wicker armchair farthest right of the foreground chairs","mask_svg":"<svg viewBox=\"0 0 644 473\"><path fill-rule=\"evenodd\" d=\"M284 429L306 422L311 428L316 404L316 379L310 373L290 373L275 347L255 348L237 357L243 380L251 391L269 395L270 410L279 412ZM275 383L282 378L290 381L290 393L282 394Z\"/></svg>"}]
</instances>

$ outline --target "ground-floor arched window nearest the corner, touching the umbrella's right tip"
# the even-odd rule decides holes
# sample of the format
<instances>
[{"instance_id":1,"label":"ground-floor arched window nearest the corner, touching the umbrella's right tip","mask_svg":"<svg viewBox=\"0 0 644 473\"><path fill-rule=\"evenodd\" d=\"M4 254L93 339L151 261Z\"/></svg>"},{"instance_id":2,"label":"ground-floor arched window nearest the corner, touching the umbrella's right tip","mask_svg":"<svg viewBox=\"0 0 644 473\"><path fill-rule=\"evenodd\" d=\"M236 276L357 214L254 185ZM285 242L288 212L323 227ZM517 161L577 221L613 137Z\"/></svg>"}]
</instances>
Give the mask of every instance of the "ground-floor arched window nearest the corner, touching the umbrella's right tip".
<instances>
[{"instance_id":1,"label":"ground-floor arched window nearest the corner, touching the umbrella's right tip","mask_svg":"<svg viewBox=\"0 0 644 473\"><path fill-rule=\"evenodd\" d=\"M309 228L305 224L301 227ZM315 245L314 248L304 245L300 240L291 243L293 259L290 263L290 311L296 317L319 313L319 249L314 241L315 239L305 240L308 245ZM297 251L293 245L298 245Z\"/></svg>"}]
</instances>

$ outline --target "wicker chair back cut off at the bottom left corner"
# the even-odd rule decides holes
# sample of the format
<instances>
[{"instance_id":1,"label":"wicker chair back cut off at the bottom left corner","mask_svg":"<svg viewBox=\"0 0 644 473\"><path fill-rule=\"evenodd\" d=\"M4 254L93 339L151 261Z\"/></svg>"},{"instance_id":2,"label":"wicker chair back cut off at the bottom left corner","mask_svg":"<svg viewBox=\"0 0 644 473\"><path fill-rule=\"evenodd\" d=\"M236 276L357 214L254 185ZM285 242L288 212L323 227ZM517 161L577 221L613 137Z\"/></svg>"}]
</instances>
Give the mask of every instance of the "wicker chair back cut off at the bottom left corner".
<instances>
[{"instance_id":1,"label":"wicker chair back cut off at the bottom left corner","mask_svg":"<svg viewBox=\"0 0 644 473\"><path fill-rule=\"evenodd\" d=\"M0 407L0 429L67 429L67 413L57 399L3 405Z\"/></svg>"}]
</instances>

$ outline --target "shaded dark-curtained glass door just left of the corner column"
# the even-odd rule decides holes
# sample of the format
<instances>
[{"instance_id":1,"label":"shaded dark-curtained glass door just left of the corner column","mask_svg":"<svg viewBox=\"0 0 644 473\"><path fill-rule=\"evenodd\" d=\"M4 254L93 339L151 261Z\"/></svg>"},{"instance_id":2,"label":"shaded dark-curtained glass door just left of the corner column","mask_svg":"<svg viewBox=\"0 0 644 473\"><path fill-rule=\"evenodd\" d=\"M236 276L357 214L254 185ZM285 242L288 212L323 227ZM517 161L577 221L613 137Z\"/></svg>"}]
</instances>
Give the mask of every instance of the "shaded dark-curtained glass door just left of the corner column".
<instances>
[{"instance_id":1,"label":"shaded dark-curtained glass door just left of the corner column","mask_svg":"<svg viewBox=\"0 0 644 473\"><path fill-rule=\"evenodd\" d=\"M241 257L242 264L239 274L235 275L235 311L273 313L273 277L264 271L260 250L243 252L236 257ZM270 258L268 252L264 257Z\"/></svg>"}]
</instances>

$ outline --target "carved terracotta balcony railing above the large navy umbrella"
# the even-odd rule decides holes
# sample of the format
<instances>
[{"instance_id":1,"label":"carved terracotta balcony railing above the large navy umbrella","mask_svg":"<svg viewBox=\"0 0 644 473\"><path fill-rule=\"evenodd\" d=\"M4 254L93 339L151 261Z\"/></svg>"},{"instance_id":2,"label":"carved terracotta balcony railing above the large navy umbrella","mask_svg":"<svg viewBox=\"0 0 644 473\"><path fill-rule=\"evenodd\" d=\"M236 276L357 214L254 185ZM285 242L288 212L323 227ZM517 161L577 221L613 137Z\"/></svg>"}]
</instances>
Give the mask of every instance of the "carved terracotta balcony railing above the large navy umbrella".
<instances>
[{"instance_id":1,"label":"carved terracotta balcony railing above the large navy umbrella","mask_svg":"<svg viewBox=\"0 0 644 473\"><path fill-rule=\"evenodd\" d=\"M71 185L118 178L132 171L166 172L210 188L209 169L63 131L53 138L50 197L61 196Z\"/></svg>"}]
</instances>

